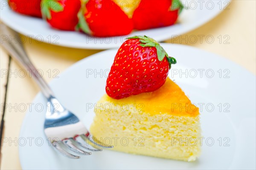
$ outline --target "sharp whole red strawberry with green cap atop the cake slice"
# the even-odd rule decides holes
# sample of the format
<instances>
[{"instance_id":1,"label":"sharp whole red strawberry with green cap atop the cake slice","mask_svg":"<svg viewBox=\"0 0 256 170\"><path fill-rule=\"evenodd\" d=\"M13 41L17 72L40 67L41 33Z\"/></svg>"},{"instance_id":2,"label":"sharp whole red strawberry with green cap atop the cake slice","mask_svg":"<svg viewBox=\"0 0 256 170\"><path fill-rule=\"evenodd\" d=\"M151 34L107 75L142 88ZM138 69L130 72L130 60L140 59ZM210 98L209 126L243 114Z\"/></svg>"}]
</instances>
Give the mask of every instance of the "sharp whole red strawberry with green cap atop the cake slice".
<instances>
[{"instance_id":1,"label":"sharp whole red strawberry with green cap atop the cake slice","mask_svg":"<svg viewBox=\"0 0 256 170\"><path fill-rule=\"evenodd\" d=\"M120 99L159 89L175 58L146 36L128 38L119 48L108 75L106 92Z\"/></svg>"}]
</instances>

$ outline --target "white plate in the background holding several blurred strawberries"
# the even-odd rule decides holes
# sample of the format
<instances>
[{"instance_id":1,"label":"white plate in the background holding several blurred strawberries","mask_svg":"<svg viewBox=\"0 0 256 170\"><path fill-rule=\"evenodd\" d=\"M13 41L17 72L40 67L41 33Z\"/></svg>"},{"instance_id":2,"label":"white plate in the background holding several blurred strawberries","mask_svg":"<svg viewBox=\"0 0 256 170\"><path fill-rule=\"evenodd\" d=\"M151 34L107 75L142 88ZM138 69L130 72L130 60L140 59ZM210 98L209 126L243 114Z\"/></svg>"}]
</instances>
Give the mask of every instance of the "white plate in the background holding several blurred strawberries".
<instances>
[{"instance_id":1,"label":"white plate in the background holding several blurred strawberries","mask_svg":"<svg viewBox=\"0 0 256 170\"><path fill-rule=\"evenodd\" d=\"M225 7L228 9L229 0L183 0L189 10L183 10L179 23L158 29L132 32L131 35L120 37L96 38L78 32L65 32L50 29L46 22L40 18L23 16L9 10L6 0L0 0L1 20L12 29L23 35L35 38L38 42L44 41L59 46L82 49L110 49L119 47L131 35L147 35L157 41L163 41L173 36L189 32L211 20Z\"/></svg>"}]
</instances>

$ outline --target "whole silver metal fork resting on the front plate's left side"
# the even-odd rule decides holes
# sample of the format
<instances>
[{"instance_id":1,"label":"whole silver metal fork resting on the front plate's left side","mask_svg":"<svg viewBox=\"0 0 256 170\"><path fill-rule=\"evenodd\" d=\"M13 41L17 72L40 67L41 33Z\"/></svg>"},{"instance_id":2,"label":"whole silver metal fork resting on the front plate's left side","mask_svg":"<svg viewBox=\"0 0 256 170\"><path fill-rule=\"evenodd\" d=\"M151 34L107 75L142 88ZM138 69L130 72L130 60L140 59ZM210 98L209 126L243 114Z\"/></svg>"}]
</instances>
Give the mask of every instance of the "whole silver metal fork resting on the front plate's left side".
<instances>
[{"instance_id":1,"label":"whole silver metal fork resting on the front plate's left side","mask_svg":"<svg viewBox=\"0 0 256 170\"><path fill-rule=\"evenodd\" d=\"M12 40L10 40L10 36ZM9 29L3 23L1 24L1 45L9 52L12 58L19 61L26 69L31 70L32 77L47 99L44 133L51 141L55 150L68 158L78 159L80 156L73 155L67 152L67 150L71 150L79 155L91 155L90 152L84 149L98 152L102 151L98 147L112 148L113 146L107 146L100 141L96 142L93 135L90 134L79 118L60 104L46 81L36 73L35 66L33 66L22 44L18 41L18 36L17 32ZM13 37L16 38L15 41ZM91 142L91 145L88 144L89 142Z\"/></svg>"}]
</instances>

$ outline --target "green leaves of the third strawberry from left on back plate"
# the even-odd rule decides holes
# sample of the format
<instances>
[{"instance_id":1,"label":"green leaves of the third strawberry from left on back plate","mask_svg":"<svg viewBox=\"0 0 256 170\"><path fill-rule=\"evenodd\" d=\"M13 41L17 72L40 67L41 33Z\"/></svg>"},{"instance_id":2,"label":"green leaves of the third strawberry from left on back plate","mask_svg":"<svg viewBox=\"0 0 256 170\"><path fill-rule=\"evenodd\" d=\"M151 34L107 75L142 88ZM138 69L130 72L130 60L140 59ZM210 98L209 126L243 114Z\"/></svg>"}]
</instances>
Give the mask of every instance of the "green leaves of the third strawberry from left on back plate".
<instances>
[{"instance_id":1,"label":"green leaves of the third strawberry from left on back plate","mask_svg":"<svg viewBox=\"0 0 256 170\"><path fill-rule=\"evenodd\" d=\"M86 10L86 4L89 0L81 0L81 8L77 14L77 17L78 17L78 24L76 25L76 31L79 31L80 29L88 34L88 35L92 35L92 31L90 30L86 20L85 20L85 17L84 17L84 13L85 13L85 10Z\"/></svg>"}]
</instances>

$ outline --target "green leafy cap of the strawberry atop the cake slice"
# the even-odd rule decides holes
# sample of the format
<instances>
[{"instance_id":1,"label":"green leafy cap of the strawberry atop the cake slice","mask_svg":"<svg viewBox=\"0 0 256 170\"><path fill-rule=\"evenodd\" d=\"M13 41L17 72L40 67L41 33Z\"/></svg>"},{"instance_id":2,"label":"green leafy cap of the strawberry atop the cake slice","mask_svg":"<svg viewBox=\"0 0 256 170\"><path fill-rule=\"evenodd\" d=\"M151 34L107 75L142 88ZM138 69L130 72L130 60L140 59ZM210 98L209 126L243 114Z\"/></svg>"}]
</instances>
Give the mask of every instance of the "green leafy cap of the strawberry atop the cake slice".
<instances>
[{"instance_id":1,"label":"green leafy cap of the strawberry atop the cake slice","mask_svg":"<svg viewBox=\"0 0 256 170\"><path fill-rule=\"evenodd\" d=\"M171 69L172 64L176 64L177 61L173 57L169 57L169 55L166 53L166 51L163 49L162 46L160 46L159 43L157 43L156 40L154 40L151 37L147 37L145 35L143 36L133 36L133 37L128 37L127 39L139 39L140 41L140 46L143 47L155 47L157 49L157 58L159 61L163 61L164 57L166 57L168 63L169 63L169 69Z\"/></svg>"}]
</instances>

